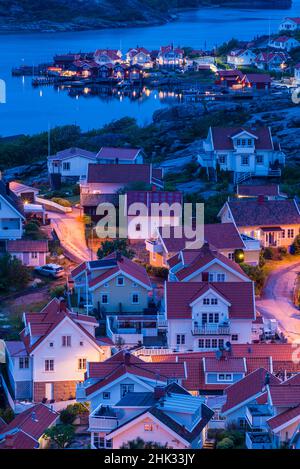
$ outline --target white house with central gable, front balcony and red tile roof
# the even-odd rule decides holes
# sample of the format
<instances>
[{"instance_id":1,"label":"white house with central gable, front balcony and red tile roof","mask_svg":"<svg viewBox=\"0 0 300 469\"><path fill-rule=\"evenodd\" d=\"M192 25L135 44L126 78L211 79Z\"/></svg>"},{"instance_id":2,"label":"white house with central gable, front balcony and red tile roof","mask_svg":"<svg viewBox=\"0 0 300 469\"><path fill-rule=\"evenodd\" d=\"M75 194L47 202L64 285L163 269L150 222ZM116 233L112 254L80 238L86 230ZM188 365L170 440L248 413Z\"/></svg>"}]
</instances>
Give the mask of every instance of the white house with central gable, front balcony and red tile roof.
<instances>
[{"instance_id":1,"label":"white house with central gable, front balcony and red tile roof","mask_svg":"<svg viewBox=\"0 0 300 469\"><path fill-rule=\"evenodd\" d=\"M205 351L251 343L252 282L166 282L164 298L170 349Z\"/></svg>"}]
</instances>

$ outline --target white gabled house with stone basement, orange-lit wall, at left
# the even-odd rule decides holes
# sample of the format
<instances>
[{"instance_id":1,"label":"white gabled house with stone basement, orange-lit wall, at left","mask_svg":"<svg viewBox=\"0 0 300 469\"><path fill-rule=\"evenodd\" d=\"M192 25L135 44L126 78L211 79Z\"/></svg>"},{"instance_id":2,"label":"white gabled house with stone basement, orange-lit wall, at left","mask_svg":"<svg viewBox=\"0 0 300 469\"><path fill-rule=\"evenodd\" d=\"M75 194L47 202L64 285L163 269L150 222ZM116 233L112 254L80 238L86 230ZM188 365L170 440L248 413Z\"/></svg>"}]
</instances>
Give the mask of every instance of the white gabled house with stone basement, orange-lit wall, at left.
<instances>
[{"instance_id":1,"label":"white gabled house with stone basement, orange-lit wall, at left","mask_svg":"<svg viewBox=\"0 0 300 469\"><path fill-rule=\"evenodd\" d=\"M87 362L110 356L110 346L95 338L95 317L75 314L56 298L38 313L24 313L23 322L21 340L5 343L14 400L74 399Z\"/></svg>"}]
</instances>

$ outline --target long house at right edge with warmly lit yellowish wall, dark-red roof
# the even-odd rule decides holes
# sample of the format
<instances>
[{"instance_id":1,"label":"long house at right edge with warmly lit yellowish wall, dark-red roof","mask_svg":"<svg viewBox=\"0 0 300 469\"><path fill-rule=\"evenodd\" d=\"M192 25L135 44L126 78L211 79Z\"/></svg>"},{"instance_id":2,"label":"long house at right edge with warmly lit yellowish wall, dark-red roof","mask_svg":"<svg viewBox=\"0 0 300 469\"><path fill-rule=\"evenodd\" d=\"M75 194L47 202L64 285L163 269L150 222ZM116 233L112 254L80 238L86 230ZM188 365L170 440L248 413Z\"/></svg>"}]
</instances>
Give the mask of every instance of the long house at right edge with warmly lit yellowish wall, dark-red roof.
<instances>
[{"instance_id":1,"label":"long house at right edge with warmly lit yellowish wall, dark-red roof","mask_svg":"<svg viewBox=\"0 0 300 469\"><path fill-rule=\"evenodd\" d=\"M234 223L241 234L259 240L262 247L288 248L300 232L299 207L292 199L229 200L218 216L222 223Z\"/></svg>"}]
</instances>

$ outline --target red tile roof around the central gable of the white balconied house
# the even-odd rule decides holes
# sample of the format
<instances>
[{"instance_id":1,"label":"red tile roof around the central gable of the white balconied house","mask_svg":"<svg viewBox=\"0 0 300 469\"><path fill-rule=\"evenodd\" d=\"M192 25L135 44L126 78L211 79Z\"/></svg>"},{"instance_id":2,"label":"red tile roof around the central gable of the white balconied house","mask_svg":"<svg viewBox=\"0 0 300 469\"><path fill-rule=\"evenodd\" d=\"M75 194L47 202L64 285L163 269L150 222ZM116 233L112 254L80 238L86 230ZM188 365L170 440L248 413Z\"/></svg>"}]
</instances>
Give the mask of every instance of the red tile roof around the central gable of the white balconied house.
<instances>
[{"instance_id":1,"label":"red tile roof around the central gable of the white balconied house","mask_svg":"<svg viewBox=\"0 0 300 469\"><path fill-rule=\"evenodd\" d=\"M254 294L252 282L166 282L168 319L190 319L190 304L212 287L228 301L229 318L254 319Z\"/></svg>"}]
</instances>

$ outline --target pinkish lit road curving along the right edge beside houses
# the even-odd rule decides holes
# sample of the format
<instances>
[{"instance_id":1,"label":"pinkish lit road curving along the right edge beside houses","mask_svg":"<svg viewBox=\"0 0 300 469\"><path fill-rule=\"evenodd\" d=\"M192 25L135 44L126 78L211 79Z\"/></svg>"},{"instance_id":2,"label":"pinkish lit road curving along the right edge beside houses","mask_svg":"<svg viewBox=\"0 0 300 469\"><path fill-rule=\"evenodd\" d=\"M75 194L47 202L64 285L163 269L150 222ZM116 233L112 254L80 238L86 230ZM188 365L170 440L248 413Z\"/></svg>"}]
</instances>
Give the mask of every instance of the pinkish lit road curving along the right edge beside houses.
<instances>
[{"instance_id":1,"label":"pinkish lit road curving along the right edge beside houses","mask_svg":"<svg viewBox=\"0 0 300 469\"><path fill-rule=\"evenodd\" d=\"M282 261L282 265L270 273L263 295L256 301L256 308L264 317L277 319L289 342L300 342L300 311L293 304L294 283L299 271L299 259Z\"/></svg>"}]
</instances>

